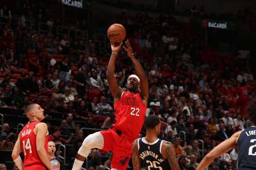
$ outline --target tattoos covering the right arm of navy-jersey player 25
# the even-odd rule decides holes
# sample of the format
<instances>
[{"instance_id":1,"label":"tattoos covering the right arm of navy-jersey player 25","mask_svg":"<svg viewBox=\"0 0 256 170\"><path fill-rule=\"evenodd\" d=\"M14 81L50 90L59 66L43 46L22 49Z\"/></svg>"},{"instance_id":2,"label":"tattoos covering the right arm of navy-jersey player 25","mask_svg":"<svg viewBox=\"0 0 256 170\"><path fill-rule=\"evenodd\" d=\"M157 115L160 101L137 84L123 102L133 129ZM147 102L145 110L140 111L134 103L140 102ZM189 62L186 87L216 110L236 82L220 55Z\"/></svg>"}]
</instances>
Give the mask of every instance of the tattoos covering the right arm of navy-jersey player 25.
<instances>
[{"instance_id":1,"label":"tattoos covering the right arm of navy-jersey player 25","mask_svg":"<svg viewBox=\"0 0 256 170\"><path fill-rule=\"evenodd\" d=\"M166 144L166 155L169 162L169 165L172 167L172 170L180 170L180 166L178 164L178 161L176 159L176 152L171 143Z\"/></svg>"}]
</instances>

